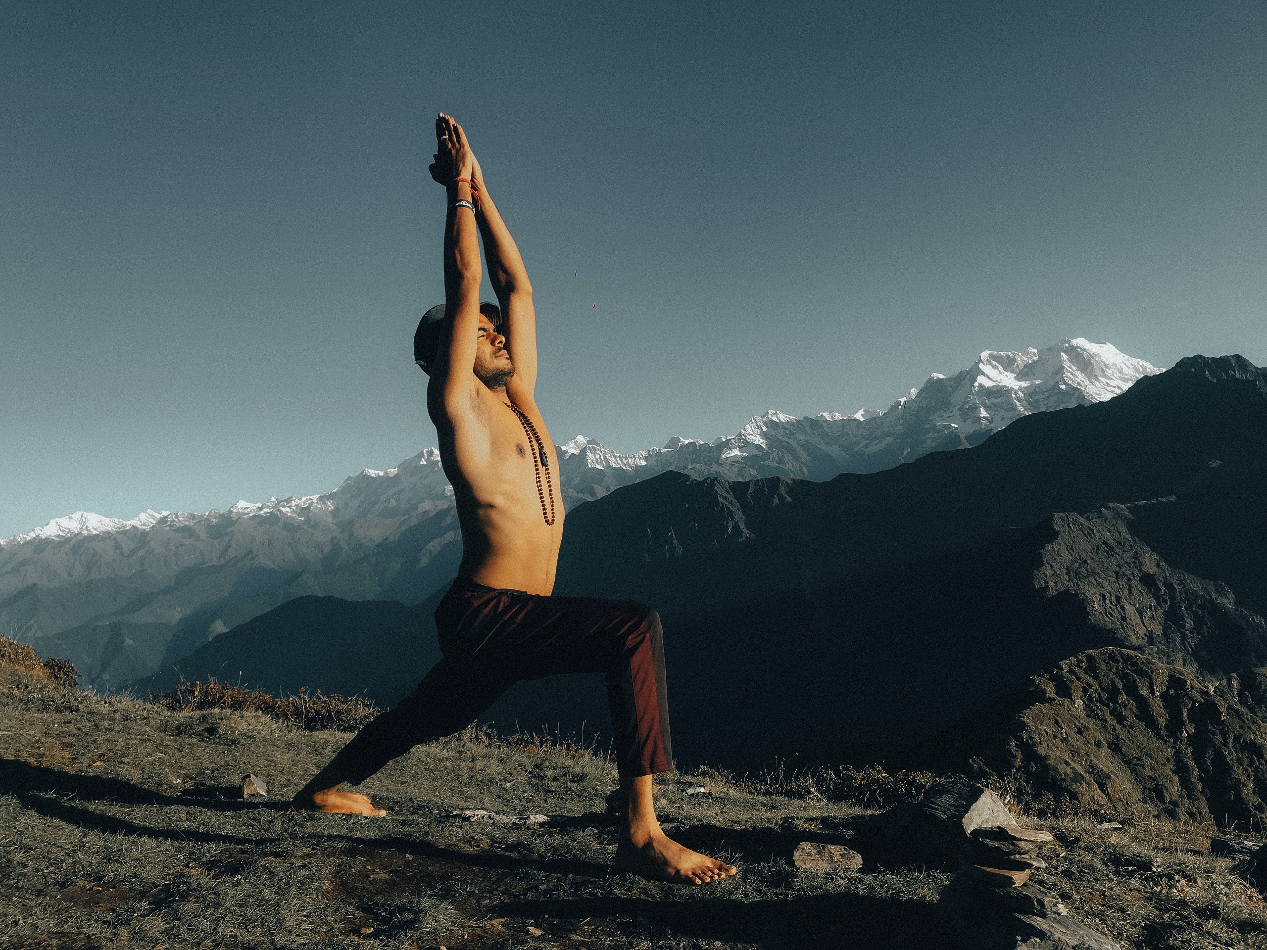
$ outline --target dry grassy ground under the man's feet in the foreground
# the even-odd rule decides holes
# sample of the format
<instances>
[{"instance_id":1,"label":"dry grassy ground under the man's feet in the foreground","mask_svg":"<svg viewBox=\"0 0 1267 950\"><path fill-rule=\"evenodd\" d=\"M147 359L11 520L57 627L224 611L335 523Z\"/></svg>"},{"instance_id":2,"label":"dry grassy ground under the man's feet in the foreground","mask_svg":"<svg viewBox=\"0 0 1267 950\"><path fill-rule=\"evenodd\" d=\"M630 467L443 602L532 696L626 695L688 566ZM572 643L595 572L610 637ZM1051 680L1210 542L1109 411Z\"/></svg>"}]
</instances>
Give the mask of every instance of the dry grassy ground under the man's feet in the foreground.
<instances>
[{"instance_id":1,"label":"dry grassy ground under the man's feet in the foreground","mask_svg":"<svg viewBox=\"0 0 1267 950\"><path fill-rule=\"evenodd\" d=\"M869 845L872 811L665 776L669 832L740 873L655 884L611 868L616 776L601 756L468 735L366 783L389 818L291 811L346 740L0 670L0 947L948 946L933 907L948 874ZM234 799L248 771L266 802ZM552 821L449 817L459 808ZM1048 827L1064 854L1036 879L1119 940L1267 947L1267 911L1207 854L1213 828ZM867 864L798 870L805 840L851 844Z\"/></svg>"}]
</instances>

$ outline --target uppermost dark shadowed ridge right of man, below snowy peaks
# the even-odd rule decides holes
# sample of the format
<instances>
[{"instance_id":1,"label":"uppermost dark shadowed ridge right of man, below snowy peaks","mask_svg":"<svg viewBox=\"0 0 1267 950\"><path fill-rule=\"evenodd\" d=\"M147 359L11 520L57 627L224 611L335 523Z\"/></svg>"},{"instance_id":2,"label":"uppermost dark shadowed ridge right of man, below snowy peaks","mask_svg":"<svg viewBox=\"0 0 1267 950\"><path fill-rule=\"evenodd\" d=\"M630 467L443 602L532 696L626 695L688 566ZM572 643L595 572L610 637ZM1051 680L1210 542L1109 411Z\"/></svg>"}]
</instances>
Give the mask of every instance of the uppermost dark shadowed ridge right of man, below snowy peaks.
<instances>
[{"instance_id":1,"label":"uppermost dark shadowed ridge right of man, below snowy peaks","mask_svg":"<svg viewBox=\"0 0 1267 950\"><path fill-rule=\"evenodd\" d=\"M1188 357L1106 403L1019 419L976 448L827 483L665 474L569 514L556 590L672 612L945 556L1053 512L1176 495L1263 518L1264 379L1243 357ZM1211 461L1239 495L1206 498ZM1190 543L1169 533L1158 523L1149 540L1177 552ZM1259 603L1267 548L1245 533L1235 541L1223 561L1252 566L1233 589ZM1204 576L1232 583L1221 570Z\"/></svg>"}]
</instances>

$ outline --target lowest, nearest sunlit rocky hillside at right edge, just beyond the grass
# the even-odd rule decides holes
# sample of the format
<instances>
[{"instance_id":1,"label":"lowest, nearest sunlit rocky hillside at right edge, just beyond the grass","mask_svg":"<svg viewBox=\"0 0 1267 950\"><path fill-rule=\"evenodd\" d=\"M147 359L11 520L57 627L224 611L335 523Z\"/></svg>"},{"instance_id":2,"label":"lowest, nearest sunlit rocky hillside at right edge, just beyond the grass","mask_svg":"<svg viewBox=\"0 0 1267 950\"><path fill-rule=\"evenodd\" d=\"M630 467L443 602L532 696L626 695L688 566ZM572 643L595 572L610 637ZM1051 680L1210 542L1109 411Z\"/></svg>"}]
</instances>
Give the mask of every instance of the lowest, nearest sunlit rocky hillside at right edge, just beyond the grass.
<instances>
[{"instance_id":1,"label":"lowest, nearest sunlit rocky hillside at right edge, just beyond the grass","mask_svg":"<svg viewBox=\"0 0 1267 950\"><path fill-rule=\"evenodd\" d=\"M1267 818L1267 730L1235 680L1130 650L1087 651L1030 678L938 736L925 761L1038 808Z\"/></svg>"}]
</instances>

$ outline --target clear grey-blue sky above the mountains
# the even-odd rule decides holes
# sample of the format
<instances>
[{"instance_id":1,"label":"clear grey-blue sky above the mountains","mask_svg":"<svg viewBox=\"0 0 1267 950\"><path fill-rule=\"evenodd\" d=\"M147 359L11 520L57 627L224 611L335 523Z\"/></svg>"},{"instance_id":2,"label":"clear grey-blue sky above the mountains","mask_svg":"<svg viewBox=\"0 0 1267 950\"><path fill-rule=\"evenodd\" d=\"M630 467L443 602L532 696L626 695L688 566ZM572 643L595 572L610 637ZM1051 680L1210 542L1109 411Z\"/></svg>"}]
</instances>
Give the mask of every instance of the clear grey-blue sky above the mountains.
<instances>
[{"instance_id":1,"label":"clear grey-blue sky above the mountains","mask_svg":"<svg viewBox=\"0 0 1267 950\"><path fill-rule=\"evenodd\" d=\"M1264 51L1235 1L6 3L0 536L435 445L441 109L559 441L883 407L1067 336L1267 364Z\"/></svg>"}]
</instances>

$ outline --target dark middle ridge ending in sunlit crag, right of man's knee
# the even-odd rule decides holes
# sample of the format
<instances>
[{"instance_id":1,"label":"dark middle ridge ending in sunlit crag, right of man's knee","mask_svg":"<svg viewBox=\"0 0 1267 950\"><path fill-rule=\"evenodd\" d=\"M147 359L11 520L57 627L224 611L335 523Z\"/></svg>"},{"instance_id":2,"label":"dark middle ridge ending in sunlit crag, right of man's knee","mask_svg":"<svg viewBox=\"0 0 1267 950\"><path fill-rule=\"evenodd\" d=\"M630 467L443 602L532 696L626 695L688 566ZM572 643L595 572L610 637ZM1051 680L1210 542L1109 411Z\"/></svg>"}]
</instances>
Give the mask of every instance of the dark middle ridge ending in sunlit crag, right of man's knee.
<instances>
[{"instance_id":1,"label":"dark middle ridge ending in sunlit crag, right of man's knee","mask_svg":"<svg viewBox=\"0 0 1267 950\"><path fill-rule=\"evenodd\" d=\"M1102 646L1201 675L1267 664L1261 617L1221 584L1168 567L1112 512L1055 514L831 590L680 611L665 635L679 752L735 763L778 751L892 757L1035 670Z\"/></svg>"}]
</instances>

